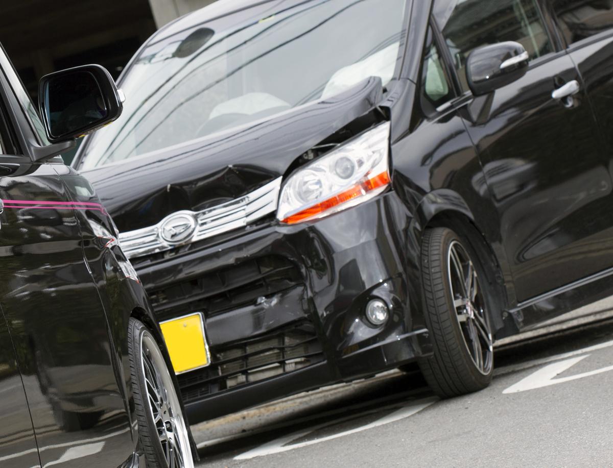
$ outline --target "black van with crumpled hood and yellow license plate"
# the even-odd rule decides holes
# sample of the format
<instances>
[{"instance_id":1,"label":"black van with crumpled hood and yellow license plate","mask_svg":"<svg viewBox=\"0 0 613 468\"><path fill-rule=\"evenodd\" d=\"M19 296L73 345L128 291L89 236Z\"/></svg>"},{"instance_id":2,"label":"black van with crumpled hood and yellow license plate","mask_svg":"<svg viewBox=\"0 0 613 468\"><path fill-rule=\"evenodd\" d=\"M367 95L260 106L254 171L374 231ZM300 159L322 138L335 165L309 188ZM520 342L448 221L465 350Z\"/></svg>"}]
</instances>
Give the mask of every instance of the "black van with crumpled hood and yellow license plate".
<instances>
[{"instance_id":1,"label":"black van with crumpled hood and yellow license plate","mask_svg":"<svg viewBox=\"0 0 613 468\"><path fill-rule=\"evenodd\" d=\"M220 0L156 32L74 165L162 331L202 323L168 342L189 421L415 363L479 390L495 339L611 295L612 64L611 0Z\"/></svg>"}]
</instances>

